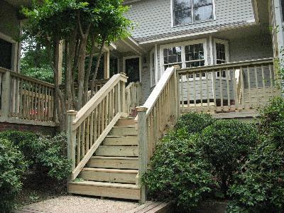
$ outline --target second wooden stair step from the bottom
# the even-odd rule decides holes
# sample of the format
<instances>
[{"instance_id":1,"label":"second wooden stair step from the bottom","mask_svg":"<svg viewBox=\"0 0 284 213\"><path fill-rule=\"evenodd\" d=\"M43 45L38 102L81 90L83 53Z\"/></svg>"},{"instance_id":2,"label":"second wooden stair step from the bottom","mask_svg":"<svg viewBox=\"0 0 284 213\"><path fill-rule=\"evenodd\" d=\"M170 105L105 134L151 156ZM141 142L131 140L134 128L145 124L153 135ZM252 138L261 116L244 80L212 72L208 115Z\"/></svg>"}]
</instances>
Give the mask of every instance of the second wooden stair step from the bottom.
<instances>
[{"instance_id":1,"label":"second wooden stair step from the bottom","mask_svg":"<svg viewBox=\"0 0 284 213\"><path fill-rule=\"evenodd\" d=\"M101 182L136 183L138 170L117 170L106 168L84 168L80 178Z\"/></svg>"}]
</instances>

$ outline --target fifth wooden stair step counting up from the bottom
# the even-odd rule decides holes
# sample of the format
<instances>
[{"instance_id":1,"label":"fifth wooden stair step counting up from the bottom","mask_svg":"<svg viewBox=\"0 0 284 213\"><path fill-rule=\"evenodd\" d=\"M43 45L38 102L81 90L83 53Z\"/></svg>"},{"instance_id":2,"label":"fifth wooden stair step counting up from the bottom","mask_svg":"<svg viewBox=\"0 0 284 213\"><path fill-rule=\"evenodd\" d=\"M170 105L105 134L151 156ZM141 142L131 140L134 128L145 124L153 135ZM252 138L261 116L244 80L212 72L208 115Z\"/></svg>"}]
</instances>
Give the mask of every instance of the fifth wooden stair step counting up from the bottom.
<instances>
[{"instance_id":1,"label":"fifth wooden stair step counting up from the bottom","mask_svg":"<svg viewBox=\"0 0 284 213\"><path fill-rule=\"evenodd\" d=\"M103 141L104 146L137 146L137 136L107 136Z\"/></svg>"}]
</instances>

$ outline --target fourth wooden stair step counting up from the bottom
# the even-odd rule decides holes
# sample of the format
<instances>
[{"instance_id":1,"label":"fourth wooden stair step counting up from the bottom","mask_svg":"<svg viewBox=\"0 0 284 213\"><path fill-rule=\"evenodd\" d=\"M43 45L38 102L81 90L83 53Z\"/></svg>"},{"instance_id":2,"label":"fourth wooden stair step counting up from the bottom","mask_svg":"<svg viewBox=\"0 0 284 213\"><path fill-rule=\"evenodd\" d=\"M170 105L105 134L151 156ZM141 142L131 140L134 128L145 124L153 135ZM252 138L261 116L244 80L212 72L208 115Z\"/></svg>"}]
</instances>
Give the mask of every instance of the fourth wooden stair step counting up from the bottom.
<instances>
[{"instance_id":1,"label":"fourth wooden stair step counting up from the bottom","mask_svg":"<svg viewBox=\"0 0 284 213\"><path fill-rule=\"evenodd\" d=\"M96 155L138 157L138 146L99 146Z\"/></svg>"}]
</instances>

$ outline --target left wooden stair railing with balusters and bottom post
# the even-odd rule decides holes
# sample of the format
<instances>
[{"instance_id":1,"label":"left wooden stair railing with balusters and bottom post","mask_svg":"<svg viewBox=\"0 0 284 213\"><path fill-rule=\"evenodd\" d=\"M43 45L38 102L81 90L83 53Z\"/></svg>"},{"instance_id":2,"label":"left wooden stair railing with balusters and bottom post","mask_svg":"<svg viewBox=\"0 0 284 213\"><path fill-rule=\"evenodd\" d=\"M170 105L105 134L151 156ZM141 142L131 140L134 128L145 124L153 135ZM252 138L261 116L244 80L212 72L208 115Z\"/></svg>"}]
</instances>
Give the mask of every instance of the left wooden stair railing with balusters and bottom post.
<instances>
[{"instance_id":1,"label":"left wooden stair railing with balusters and bottom post","mask_svg":"<svg viewBox=\"0 0 284 213\"><path fill-rule=\"evenodd\" d=\"M116 74L80 111L67 111L68 158L72 160L69 181L77 178L114 124L126 116L126 82L124 73Z\"/></svg>"}]
</instances>

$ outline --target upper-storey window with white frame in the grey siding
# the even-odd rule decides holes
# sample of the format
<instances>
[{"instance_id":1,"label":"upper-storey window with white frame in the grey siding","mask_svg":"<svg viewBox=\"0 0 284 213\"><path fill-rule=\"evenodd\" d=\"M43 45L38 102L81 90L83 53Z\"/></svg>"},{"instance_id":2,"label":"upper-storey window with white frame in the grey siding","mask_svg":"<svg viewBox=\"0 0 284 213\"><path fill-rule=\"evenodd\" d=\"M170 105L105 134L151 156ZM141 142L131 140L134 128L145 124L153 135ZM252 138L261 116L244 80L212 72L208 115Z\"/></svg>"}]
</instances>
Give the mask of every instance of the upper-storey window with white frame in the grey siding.
<instances>
[{"instance_id":1,"label":"upper-storey window with white frame in the grey siding","mask_svg":"<svg viewBox=\"0 0 284 213\"><path fill-rule=\"evenodd\" d=\"M213 0L172 0L173 25L209 21L214 18Z\"/></svg>"}]
</instances>

